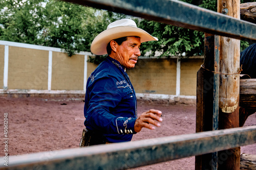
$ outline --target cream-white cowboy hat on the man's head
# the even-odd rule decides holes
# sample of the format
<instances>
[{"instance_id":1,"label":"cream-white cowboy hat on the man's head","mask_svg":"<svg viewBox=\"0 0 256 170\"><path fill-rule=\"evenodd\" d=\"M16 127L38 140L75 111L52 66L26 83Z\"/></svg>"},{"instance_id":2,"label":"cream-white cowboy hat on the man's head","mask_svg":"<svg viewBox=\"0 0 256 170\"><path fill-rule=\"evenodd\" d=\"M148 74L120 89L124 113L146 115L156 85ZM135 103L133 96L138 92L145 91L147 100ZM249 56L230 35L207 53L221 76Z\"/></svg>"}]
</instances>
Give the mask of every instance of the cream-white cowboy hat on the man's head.
<instances>
[{"instance_id":1,"label":"cream-white cowboy hat on the man's head","mask_svg":"<svg viewBox=\"0 0 256 170\"><path fill-rule=\"evenodd\" d=\"M108 54L106 52L106 46L111 40L127 36L138 36L140 37L140 42L158 40L158 38L153 37L146 31L137 28L135 21L121 19L110 23L105 31L102 31L94 38L91 44L91 52L95 55Z\"/></svg>"}]
</instances>

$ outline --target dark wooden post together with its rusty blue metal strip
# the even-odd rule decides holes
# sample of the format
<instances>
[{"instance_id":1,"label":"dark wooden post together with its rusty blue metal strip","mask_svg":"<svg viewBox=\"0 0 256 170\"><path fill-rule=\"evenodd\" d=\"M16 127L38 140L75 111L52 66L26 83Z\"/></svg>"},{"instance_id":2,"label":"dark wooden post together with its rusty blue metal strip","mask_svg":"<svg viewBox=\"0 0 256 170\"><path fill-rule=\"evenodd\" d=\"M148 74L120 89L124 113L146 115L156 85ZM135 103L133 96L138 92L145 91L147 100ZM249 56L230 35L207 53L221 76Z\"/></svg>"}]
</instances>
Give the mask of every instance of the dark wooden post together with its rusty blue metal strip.
<instances>
[{"instance_id":1,"label":"dark wooden post together with its rusty blue metal strip","mask_svg":"<svg viewBox=\"0 0 256 170\"><path fill-rule=\"evenodd\" d=\"M218 129L219 44L215 43L215 38L205 33L204 63L197 72L196 132ZM195 169L217 169L217 153L196 156Z\"/></svg>"}]
</instances>

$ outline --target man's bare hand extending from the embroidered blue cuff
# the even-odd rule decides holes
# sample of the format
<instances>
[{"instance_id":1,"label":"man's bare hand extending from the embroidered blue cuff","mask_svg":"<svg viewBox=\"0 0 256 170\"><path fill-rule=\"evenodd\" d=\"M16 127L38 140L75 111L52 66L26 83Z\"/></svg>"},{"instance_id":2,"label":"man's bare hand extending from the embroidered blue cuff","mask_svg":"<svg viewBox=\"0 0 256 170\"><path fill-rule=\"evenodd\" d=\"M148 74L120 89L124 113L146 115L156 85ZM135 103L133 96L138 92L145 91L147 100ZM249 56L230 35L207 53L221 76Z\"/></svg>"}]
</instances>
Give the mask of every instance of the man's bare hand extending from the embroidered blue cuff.
<instances>
[{"instance_id":1,"label":"man's bare hand extending from the embroidered blue cuff","mask_svg":"<svg viewBox=\"0 0 256 170\"><path fill-rule=\"evenodd\" d=\"M147 112L142 113L134 124L134 131L140 132L142 128L148 128L154 130L156 127L160 127L160 123L163 119L161 118L162 112L160 110L150 109Z\"/></svg>"}]
</instances>

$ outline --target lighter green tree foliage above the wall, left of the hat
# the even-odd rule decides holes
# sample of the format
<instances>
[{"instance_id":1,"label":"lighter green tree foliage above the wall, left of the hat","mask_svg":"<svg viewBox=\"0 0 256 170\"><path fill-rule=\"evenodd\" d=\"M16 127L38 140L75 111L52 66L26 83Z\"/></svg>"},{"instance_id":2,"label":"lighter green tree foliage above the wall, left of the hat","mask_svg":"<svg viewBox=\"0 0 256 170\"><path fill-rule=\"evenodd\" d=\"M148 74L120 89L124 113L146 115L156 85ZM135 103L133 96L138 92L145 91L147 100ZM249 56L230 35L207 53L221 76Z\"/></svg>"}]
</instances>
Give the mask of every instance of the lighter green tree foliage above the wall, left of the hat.
<instances>
[{"instance_id":1,"label":"lighter green tree foliage above the wall, left of the hat","mask_svg":"<svg viewBox=\"0 0 256 170\"><path fill-rule=\"evenodd\" d=\"M1 40L59 47L69 56L90 51L111 21L109 12L54 0L4 0L0 10Z\"/></svg>"}]
</instances>

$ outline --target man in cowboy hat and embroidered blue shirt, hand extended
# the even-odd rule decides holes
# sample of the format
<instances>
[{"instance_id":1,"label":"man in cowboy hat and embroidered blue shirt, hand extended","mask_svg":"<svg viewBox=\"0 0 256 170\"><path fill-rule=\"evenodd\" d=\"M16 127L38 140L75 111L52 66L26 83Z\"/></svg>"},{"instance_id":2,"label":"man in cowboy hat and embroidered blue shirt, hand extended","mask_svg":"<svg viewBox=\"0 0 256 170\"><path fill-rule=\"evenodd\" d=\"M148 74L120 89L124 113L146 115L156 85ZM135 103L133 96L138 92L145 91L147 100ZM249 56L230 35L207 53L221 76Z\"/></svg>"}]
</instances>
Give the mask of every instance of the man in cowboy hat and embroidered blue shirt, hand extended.
<instances>
[{"instance_id":1,"label":"man in cowboy hat and embroidered blue shirt, hand extended","mask_svg":"<svg viewBox=\"0 0 256 170\"><path fill-rule=\"evenodd\" d=\"M131 141L142 128L154 130L162 122L159 110L137 117L137 101L126 68L133 68L140 56L140 44L158 40L137 28L131 19L110 23L95 37L91 52L108 57L92 72L87 82L84 125L80 147Z\"/></svg>"}]
</instances>

